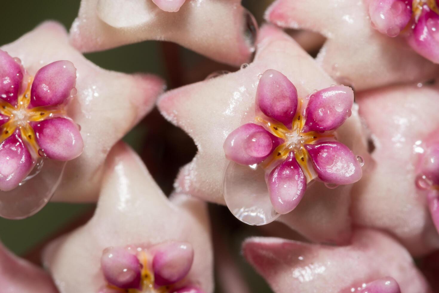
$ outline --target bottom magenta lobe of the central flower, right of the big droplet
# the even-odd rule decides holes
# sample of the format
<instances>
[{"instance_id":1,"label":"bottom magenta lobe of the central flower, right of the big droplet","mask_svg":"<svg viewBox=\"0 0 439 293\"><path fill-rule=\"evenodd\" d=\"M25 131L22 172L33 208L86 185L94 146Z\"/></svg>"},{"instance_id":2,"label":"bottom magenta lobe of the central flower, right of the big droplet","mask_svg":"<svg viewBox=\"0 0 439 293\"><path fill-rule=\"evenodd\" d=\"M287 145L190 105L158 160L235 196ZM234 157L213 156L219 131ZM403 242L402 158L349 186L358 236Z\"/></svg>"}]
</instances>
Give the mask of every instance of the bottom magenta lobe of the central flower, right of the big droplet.
<instances>
[{"instance_id":1,"label":"bottom magenta lobe of the central flower, right of the big droplet","mask_svg":"<svg viewBox=\"0 0 439 293\"><path fill-rule=\"evenodd\" d=\"M267 187L271 204L278 213L289 213L299 204L306 190L306 177L294 152L289 152L287 159L271 171Z\"/></svg>"}]
</instances>

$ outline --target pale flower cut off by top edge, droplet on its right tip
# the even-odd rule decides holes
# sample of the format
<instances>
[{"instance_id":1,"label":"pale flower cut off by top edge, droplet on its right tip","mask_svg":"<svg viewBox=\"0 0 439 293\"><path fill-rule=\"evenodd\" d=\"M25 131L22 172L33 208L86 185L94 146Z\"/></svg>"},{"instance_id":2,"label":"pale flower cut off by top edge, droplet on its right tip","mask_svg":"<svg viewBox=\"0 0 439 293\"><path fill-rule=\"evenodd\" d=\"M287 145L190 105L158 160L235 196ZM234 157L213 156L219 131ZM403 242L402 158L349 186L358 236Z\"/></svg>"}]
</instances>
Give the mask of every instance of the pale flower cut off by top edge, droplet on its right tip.
<instances>
[{"instance_id":1,"label":"pale flower cut off by top edge, droplet on its right tip","mask_svg":"<svg viewBox=\"0 0 439 293\"><path fill-rule=\"evenodd\" d=\"M82 0L70 30L71 42L89 52L144 40L166 40L239 66L250 60L258 28L240 2Z\"/></svg>"}]
</instances>

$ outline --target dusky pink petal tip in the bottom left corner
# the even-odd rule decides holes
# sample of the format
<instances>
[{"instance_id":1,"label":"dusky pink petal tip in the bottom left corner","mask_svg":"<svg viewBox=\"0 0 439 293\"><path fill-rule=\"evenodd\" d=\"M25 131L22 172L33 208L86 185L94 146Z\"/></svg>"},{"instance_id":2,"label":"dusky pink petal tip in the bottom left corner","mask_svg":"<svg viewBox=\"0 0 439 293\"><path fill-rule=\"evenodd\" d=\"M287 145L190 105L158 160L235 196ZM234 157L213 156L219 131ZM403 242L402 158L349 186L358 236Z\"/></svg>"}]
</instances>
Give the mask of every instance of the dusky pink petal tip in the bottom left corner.
<instances>
[{"instance_id":1,"label":"dusky pink petal tip in the bottom left corner","mask_svg":"<svg viewBox=\"0 0 439 293\"><path fill-rule=\"evenodd\" d=\"M16 257L0 243L0 285L4 293L58 293L50 276Z\"/></svg>"}]
</instances>

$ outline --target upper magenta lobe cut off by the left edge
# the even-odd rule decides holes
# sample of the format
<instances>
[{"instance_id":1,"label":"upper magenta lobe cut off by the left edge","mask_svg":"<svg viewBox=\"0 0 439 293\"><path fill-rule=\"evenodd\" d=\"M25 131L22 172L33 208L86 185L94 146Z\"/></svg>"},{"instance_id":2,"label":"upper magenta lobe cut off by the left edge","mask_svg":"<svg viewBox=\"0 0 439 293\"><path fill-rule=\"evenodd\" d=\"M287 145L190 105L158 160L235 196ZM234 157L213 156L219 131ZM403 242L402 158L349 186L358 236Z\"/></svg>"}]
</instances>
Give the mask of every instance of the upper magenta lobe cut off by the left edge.
<instances>
[{"instance_id":1,"label":"upper magenta lobe cut off by the left edge","mask_svg":"<svg viewBox=\"0 0 439 293\"><path fill-rule=\"evenodd\" d=\"M15 105L22 80L20 65L5 51L0 50L0 98Z\"/></svg>"}]
</instances>

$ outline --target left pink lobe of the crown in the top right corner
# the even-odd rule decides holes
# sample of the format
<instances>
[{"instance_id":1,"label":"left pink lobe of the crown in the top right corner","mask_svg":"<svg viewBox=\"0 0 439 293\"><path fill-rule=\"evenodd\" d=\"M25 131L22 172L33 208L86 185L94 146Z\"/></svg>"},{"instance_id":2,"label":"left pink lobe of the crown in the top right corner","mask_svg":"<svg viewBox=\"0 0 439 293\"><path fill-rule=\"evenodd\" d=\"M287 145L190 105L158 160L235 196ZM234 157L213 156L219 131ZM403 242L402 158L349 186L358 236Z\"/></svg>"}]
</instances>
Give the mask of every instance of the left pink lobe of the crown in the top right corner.
<instances>
[{"instance_id":1,"label":"left pink lobe of the crown in the top right corner","mask_svg":"<svg viewBox=\"0 0 439 293\"><path fill-rule=\"evenodd\" d=\"M411 18L411 3L405 0L370 0L369 15L375 29L388 36L397 36Z\"/></svg>"}]
</instances>

